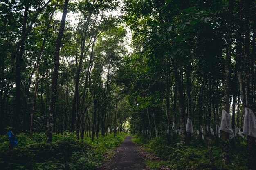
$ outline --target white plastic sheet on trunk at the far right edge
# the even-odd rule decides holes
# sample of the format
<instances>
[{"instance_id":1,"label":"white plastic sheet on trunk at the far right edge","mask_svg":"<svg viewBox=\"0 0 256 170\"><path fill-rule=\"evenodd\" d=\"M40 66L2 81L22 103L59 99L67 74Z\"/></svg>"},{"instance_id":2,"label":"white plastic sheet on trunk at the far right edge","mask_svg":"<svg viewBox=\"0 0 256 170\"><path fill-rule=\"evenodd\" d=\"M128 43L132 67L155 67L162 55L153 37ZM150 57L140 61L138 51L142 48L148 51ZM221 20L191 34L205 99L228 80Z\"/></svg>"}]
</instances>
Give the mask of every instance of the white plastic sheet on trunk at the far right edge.
<instances>
[{"instance_id":1,"label":"white plastic sheet on trunk at the far right edge","mask_svg":"<svg viewBox=\"0 0 256 170\"><path fill-rule=\"evenodd\" d=\"M245 108L243 134L256 137L256 119L250 108Z\"/></svg>"}]
</instances>

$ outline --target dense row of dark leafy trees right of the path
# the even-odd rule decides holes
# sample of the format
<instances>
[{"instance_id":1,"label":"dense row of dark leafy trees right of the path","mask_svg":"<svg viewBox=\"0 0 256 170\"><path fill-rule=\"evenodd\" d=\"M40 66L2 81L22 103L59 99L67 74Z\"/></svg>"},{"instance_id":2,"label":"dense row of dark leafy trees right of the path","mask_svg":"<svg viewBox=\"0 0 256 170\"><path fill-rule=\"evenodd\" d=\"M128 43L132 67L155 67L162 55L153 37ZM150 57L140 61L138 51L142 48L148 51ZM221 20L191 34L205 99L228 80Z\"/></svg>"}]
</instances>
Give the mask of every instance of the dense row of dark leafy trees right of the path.
<instances>
[{"instance_id":1,"label":"dense row of dark leafy trees right of the path","mask_svg":"<svg viewBox=\"0 0 256 170\"><path fill-rule=\"evenodd\" d=\"M134 53L118 78L130 95L133 130L157 137L173 134L174 127L180 141L190 141L192 134L185 130L189 118L195 133L202 126L210 137L224 109L232 116L233 132L237 127L243 132L245 108L256 113L255 1L124 3ZM200 131L199 141L205 134ZM222 131L225 164L229 145L229 134ZM247 148L248 168L255 169L255 137L247 136Z\"/></svg>"}]
</instances>

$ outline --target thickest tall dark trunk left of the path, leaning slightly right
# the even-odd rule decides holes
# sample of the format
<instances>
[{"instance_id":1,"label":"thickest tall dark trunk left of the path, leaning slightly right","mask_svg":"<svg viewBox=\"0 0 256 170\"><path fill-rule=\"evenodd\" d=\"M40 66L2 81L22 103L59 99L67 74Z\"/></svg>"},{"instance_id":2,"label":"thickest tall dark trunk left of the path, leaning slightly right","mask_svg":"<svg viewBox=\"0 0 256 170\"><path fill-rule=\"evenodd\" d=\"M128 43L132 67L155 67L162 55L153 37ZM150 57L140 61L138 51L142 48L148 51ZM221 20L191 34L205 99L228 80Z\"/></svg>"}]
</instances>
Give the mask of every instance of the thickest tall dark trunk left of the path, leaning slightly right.
<instances>
[{"instance_id":1,"label":"thickest tall dark trunk left of the path, leaning slightly right","mask_svg":"<svg viewBox=\"0 0 256 170\"><path fill-rule=\"evenodd\" d=\"M66 15L67 15L67 7L68 7L68 1L65 0L64 2L64 9L62 13L61 18L61 25L58 32L58 37L56 40L55 45L55 51L54 51L54 72L52 77L52 93L51 93L51 99L50 99L50 106L49 106L49 115L47 120L47 133L46 133L46 141L50 142L52 141L52 128L53 128L53 117L54 117L54 109L55 109L55 98L57 93L57 81L58 81L58 70L60 66L59 62L59 51L61 47L61 39L63 37L64 28L65 28L65 21L66 21Z\"/></svg>"}]
</instances>

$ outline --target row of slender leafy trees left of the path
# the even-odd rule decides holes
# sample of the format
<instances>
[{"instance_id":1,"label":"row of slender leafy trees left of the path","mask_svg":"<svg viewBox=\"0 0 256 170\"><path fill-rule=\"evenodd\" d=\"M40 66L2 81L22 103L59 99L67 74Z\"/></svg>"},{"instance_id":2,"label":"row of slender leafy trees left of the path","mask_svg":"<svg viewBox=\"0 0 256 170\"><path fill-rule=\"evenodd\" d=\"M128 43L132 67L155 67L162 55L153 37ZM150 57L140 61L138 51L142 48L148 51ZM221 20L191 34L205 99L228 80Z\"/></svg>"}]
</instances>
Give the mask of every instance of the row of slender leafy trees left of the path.
<instances>
[{"instance_id":1,"label":"row of slender leafy trees left of the path","mask_svg":"<svg viewBox=\"0 0 256 170\"><path fill-rule=\"evenodd\" d=\"M122 130L128 100L116 83L126 29L117 0L0 2L0 132ZM77 15L66 20L67 13ZM61 20L58 20L58 16ZM73 17L74 18L74 17ZM88 133L84 133L87 131Z\"/></svg>"}]
</instances>

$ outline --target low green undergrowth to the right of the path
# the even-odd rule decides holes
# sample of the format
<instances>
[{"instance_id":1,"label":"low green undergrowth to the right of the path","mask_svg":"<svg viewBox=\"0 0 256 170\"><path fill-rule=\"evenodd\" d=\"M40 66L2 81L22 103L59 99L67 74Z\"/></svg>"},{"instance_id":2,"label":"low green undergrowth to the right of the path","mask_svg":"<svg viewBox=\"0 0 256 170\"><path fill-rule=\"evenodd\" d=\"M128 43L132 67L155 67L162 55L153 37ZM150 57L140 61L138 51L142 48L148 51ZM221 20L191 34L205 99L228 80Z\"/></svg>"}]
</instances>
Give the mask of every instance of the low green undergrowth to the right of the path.
<instances>
[{"instance_id":1,"label":"low green undergrowth to the right of the path","mask_svg":"<svg viewBox=\"0 0 256 170\"><path fill-rule=\"evenodd\" d=\"M152 152L163 161L147 160L146 164L151 169L160 169L166 166L171 170L211 170L207 144L199 144L194 140L189 145L180 143L177 138L160 136L148 139L145 135L135 135L133 141L142 145L144 150ZM229 149L230 164L222 163L221 144L214 141L213 154L218 170L247 170L247 150L245 142L236 144L235 149Z\"/></svg>"}]
</instances>

